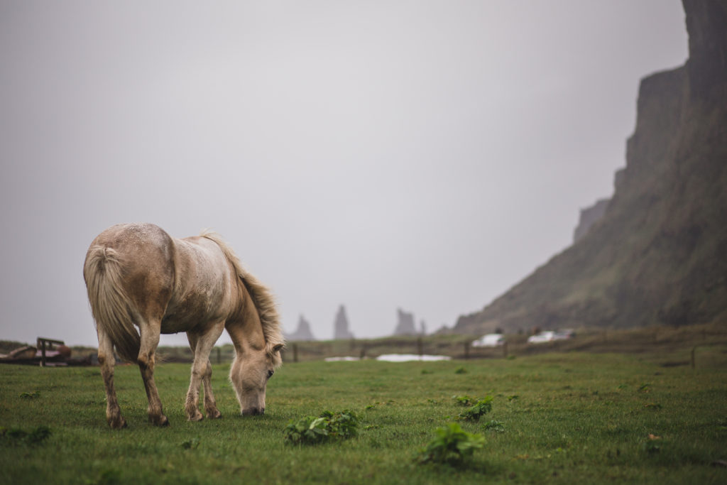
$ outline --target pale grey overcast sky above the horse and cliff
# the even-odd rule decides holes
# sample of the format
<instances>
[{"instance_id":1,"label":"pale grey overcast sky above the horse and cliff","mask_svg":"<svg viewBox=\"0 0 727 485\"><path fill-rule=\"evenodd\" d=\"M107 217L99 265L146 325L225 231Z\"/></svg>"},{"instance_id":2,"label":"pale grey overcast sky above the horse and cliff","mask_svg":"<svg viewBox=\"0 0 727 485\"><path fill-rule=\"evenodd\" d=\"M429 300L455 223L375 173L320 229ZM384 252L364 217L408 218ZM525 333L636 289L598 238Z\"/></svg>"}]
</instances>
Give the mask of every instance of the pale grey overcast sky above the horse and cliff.
<instances>
[{"instance_id":1,"label":"pale grey overcast sky above the horse and cliff","mask_svg":"<svg viewBox=\"0 0 727 485\"><path fill-rule=\"evenodd\" d=\"M287 332L451 326L571 244L686 56L678 0L0 0L0 339L96 345L122 222L220 232Z\"/></svg>"}]
</instances>

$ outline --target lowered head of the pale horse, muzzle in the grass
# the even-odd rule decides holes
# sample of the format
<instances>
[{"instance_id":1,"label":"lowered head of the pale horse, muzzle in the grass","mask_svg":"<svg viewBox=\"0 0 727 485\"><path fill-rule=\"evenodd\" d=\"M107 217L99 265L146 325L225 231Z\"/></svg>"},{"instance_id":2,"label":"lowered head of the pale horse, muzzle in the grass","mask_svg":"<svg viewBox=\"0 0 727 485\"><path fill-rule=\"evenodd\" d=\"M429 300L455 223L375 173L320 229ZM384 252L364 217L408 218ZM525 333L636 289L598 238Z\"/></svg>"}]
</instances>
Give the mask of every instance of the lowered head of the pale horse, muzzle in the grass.
<instances>
[{"instance_id":1,"label":"lowered head of the pale horse, muzzle in the grass","mask_svg":"<svg viewBox=\"0 0 727 485\"><path fill-rule=\"evenodd\" d=\"M265 388L281 364L282 348L283 344L265 345L264 348L249 348L236 354L230 368L230 382L235 388L242 414L265 412Z\"/></svg>"}]
</instances>

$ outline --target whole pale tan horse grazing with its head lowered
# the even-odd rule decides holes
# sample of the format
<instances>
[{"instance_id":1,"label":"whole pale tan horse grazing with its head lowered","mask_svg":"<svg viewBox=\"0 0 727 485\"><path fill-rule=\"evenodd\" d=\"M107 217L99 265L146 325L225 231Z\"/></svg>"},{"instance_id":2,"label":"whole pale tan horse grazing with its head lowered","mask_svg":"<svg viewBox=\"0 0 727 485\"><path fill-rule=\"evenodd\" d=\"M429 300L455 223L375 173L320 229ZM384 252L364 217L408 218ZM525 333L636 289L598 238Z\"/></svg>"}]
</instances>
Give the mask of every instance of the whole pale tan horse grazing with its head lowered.
<instances>
[{"instance_id":1,"label":"whole pale tan horse grazing with its head lowered","mask_svg":"<svg viewBox=\"0 0 727 485\"><path fill-rule=\"evenodd\" d=\"M278 312L270 290L242 268L217 233L174 239L152 224L114 225L91 243L84 280L96 321L111 428L126 426L113 387L114 347L119 356L139 364L150 422L169 424L154 383L160 333L187 332L194 353L185 402L190 421L203 418L198 408L201 384L207 417L220 417L210 384L209 353L222 329L235 347L230 382L241 413L265 412L265 388L281 365L284 346Z\"/></svg>"}]
</instances>

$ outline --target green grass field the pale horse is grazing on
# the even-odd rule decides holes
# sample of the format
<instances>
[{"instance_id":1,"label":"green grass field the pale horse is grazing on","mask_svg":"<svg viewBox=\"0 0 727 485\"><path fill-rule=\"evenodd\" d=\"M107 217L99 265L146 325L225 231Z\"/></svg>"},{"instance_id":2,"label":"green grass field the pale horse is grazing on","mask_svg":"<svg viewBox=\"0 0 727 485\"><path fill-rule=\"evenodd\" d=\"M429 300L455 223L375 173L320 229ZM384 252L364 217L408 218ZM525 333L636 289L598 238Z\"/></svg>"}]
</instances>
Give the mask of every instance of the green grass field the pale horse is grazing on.
<instances>
[{"instance_id":1,"label":"green grass field the pale horse is grazing on","mask_svg":"<svg viewBox=\"0 0 727 485\"><path fill-rule=\"evenodd\" d=\"M0 484L658 483L724 484L727 346L670 354L551 353L477 361L286 364L268 385L265 416L241 417L214 366L222 420L187 422L188 365L162 364L156 382L171 425L146 421L138 369L116 385L129 427L105 422L99 369L0 366ZM664 365L666 364L666 365ZM462 371L464 369L464 372ZM419 465L418 450L462 407L494 396L486 438L467 465ZM358 436L291 445L289 420L352 409ZM503 430L485 430L484 422ZM46 439L25 436L39 426ZM20 430L20 432L19 432ZM651 435L651 438L650 438Z\"/></svg>"}]
</instances>

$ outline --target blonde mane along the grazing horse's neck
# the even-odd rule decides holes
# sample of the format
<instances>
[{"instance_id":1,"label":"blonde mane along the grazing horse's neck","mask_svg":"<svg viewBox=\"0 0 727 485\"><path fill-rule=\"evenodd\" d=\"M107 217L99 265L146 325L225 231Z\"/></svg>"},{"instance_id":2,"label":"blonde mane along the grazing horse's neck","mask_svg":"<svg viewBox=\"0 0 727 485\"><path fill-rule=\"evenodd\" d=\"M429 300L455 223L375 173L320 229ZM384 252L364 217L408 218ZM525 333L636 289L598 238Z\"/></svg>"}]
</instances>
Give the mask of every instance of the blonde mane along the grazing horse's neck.
<instances>
[{"instance_id":1,"label":"blonde mane along the grazing horse's neck","mask_svg":"<svg viewBox=\"0 0 727 485\"><path fill-rule=\"evenodd\" d=\"M285 339L281 331L280 316L278 315L275 295L273 295L273 292L270 291L268 286L262 284L252 273L243 268L237 254L222 239L220 234L209 229L204 229L199 235L210 241L214 241L217 246L220 246L225 257L232 263L235 272L240 276L250 297L252 297L255 308L257 308L257 313L260 316L260 324L262 324L262 334L265 335L265 348L270 358L273 359L273 363L276 366L280 365L280 353L273 350L273 348L276 345L285 345Z\"/></svg>"}]
</instances>

